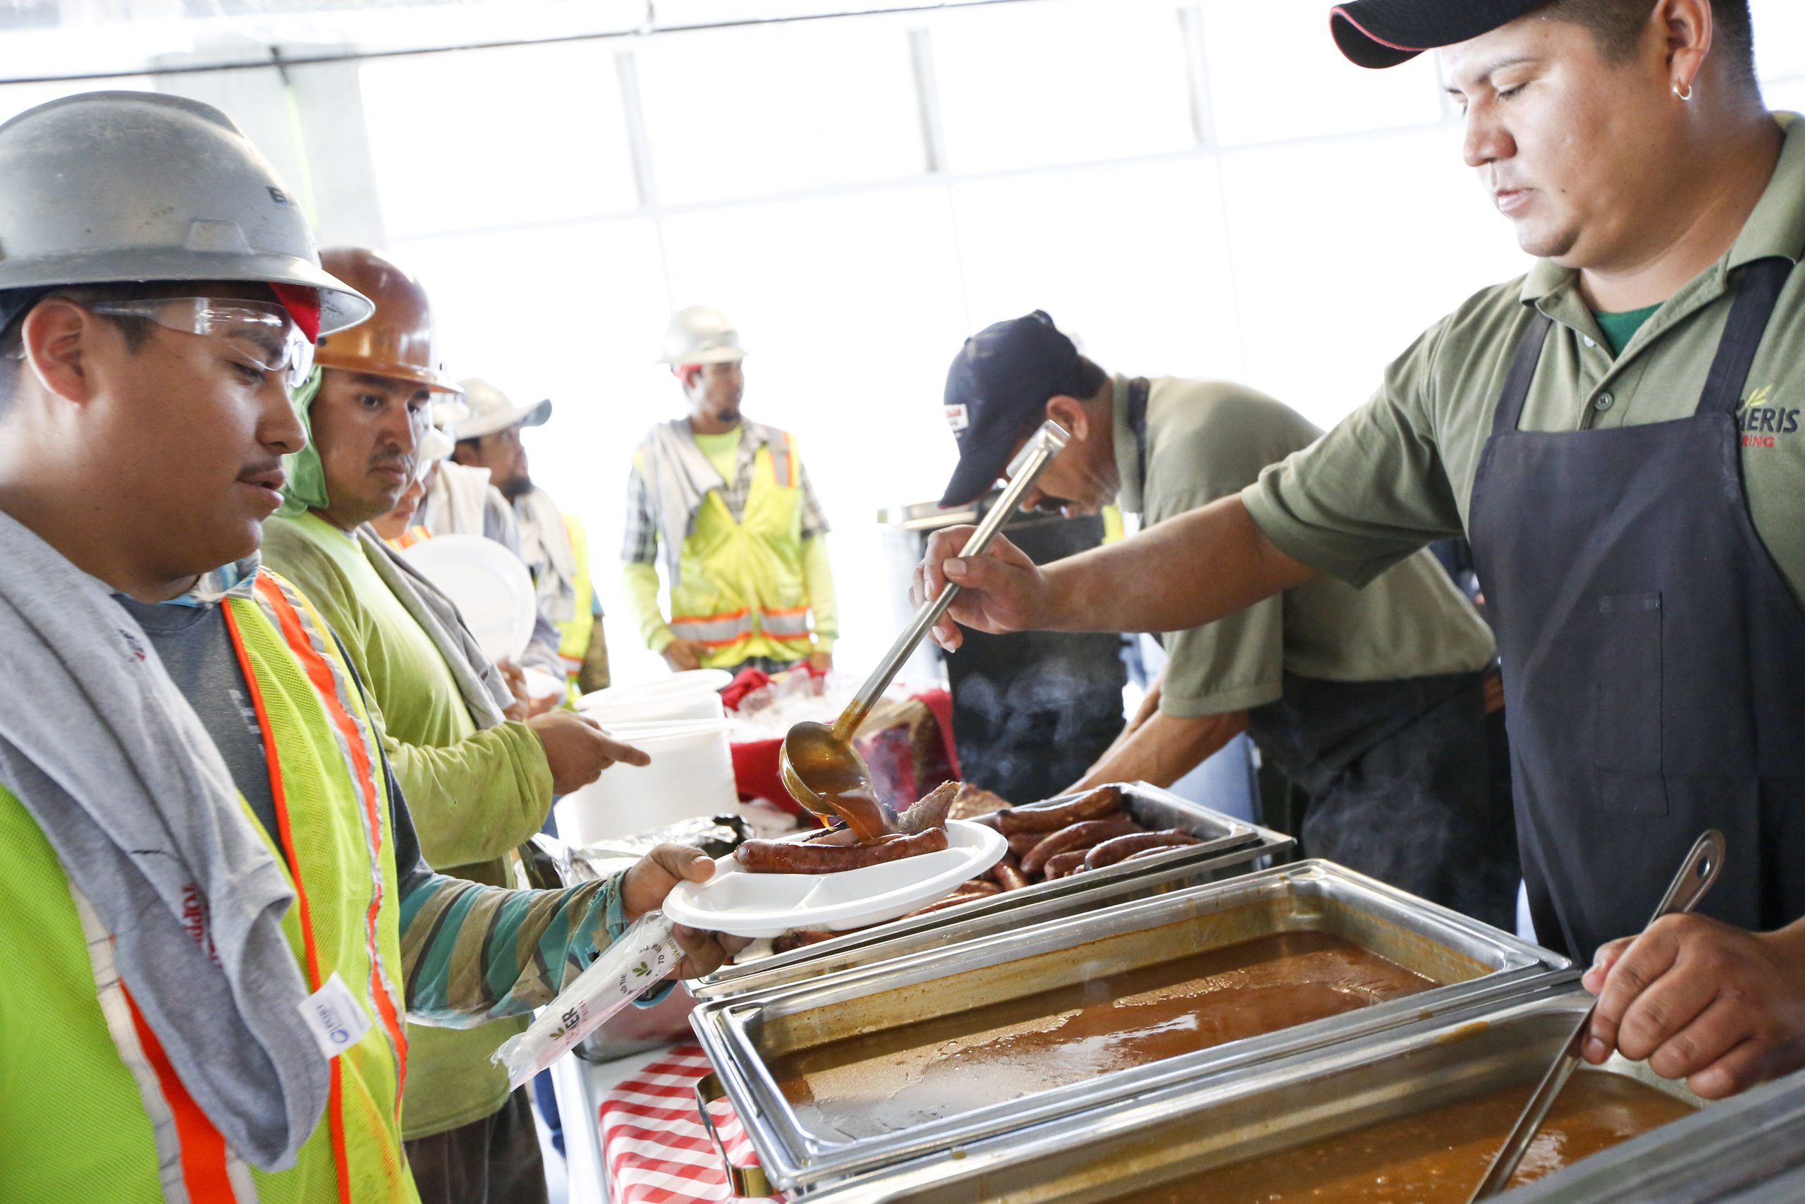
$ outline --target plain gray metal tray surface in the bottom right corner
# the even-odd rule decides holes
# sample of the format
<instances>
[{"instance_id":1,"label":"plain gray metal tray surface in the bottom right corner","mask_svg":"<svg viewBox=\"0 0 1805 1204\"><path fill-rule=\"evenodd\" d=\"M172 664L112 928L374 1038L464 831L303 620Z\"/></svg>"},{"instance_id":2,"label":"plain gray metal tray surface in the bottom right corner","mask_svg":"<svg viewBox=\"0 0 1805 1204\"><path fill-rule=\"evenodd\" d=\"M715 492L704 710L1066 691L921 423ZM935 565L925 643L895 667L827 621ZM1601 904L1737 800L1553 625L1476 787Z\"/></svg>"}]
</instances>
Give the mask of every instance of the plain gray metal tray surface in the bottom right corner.
<instances>
[{"instance_id":1,"label":"plain gray metal tray surface in the bottom right corner","mask_svg":"<svg viewBox=\"0 0 1805 1204\"><path fill-rule=\"evenodd\" d=\"M1798 1204L1805 1070L1520 1188L1511 1204Z\"/></svg>"}]
</instances>

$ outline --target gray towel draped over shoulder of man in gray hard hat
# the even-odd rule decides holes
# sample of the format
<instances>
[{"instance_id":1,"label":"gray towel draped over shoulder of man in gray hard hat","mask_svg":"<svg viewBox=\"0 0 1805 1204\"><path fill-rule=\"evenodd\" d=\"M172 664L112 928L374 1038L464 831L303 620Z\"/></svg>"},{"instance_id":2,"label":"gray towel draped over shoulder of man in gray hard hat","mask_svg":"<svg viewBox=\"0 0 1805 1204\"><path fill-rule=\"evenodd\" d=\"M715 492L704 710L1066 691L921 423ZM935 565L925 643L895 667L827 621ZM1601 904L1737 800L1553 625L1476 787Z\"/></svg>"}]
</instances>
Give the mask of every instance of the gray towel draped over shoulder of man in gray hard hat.
<instances>
[{"instance_id":1,"label":"gray towel draped over shoulder of man in gray hard hat","mask_svg":"<svg viewBox=\"0 0 1805 1204\"><path fill-rule=\"evenodd\" d=\"M105 583L0 513L0 783L114 937L121 980L231 1150L294 1164L330 1067L294 903L224 758Z\"/></svg>"}]
</instances>

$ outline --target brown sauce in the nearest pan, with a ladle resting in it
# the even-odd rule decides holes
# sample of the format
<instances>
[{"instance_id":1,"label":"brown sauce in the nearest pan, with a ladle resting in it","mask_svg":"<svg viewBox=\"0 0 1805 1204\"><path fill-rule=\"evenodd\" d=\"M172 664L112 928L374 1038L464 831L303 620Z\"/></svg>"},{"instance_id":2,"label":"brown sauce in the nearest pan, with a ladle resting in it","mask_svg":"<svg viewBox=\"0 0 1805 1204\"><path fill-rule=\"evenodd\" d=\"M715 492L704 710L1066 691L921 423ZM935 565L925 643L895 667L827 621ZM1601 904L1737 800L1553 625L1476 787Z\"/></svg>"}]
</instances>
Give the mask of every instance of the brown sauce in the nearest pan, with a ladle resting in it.
<instances>
[{"instance_id":1,"label":"brown sauce in the nearest pan, with a ladle resting in it","mask_svg":"<svg viewBox=\"0 0 1805 1204\"><path fill-rule=\"evenodd\" d=\"M1222 1166L1110 1204L1466 1204L1534 1085L1383 1121ZM1511 1186L1552 1175L1682 1116L1691 1105L1623 1074L1581 1070L1554 1099Z\"/></svg>"}]
</instances>

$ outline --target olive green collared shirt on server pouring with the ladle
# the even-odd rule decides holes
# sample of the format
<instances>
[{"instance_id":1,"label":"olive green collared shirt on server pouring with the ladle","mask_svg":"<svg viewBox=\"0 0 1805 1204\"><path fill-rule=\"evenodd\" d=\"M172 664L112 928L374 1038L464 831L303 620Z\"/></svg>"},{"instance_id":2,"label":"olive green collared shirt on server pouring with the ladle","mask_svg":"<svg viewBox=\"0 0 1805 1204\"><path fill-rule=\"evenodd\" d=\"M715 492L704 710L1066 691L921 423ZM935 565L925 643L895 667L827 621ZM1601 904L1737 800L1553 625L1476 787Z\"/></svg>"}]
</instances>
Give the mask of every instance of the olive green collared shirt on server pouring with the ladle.
<instances>
[{"instance_id":1,"label":"olive green collared shirt on server pouring with the ladle","mask_svg":"<svg viewBox=\"0 0 1805 1204\"><path fill-rule=\"evenodd\" d=\"M1516 345L1536 310L1552 320L1520 430L1581 431L1691 417L1735 298L1735 271L1805 251L1805 121L1776 114L1780 164L1735 245L1655 310L1612 356L1579 274L1538 262L1430 327L1379 392L1316 446L1242 493L1289 556L1370 581L1430 540L1467 529L1480 451ZM1742 477L1754 531L1805 597L1805 273L1794 271L1744 394ZM1522 498L1532 522L1536 498Z\"/></svg>"}]
</instances>

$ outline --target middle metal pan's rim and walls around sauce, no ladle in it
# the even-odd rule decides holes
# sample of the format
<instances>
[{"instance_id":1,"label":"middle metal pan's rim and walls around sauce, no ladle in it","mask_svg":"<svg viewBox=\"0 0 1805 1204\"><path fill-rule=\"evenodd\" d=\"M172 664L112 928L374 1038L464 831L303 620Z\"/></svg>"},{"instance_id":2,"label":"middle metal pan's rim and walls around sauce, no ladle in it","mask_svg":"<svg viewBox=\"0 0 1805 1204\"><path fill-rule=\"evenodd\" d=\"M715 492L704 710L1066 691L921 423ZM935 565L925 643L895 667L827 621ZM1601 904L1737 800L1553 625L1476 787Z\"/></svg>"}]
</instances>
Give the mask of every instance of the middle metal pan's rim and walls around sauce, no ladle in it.
<instances>
[{"instance_id":1,"label":"middle metal pan's rim and walls around sauce, no ladle in it","mask_svg":"<svg viewBox=\"0 0 1805 1204\"><path fill-rule=\"evenodd\" d=\"M1339 935L1444 986L865 1139L832 1141L810 1132L769 1067L769 1060L839 1038L1285 931ZM810 1191L1173 1083L1233 1081L1276 1058L1498 1004L1572 977L1567 959L1556 953L1338 865L1303 861L801 986L715 1000L691 1013L690 1022L715 1067L711 1078L733 1099L758 1150L767 1181ZM704 1079L699 1096L713 1090L715 1083Z\"/></svg>"}]
</instances>

